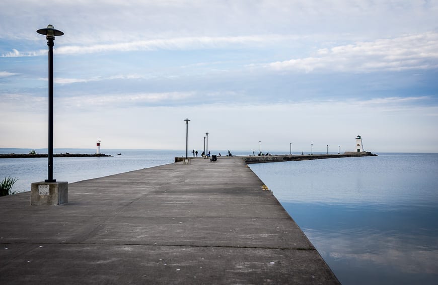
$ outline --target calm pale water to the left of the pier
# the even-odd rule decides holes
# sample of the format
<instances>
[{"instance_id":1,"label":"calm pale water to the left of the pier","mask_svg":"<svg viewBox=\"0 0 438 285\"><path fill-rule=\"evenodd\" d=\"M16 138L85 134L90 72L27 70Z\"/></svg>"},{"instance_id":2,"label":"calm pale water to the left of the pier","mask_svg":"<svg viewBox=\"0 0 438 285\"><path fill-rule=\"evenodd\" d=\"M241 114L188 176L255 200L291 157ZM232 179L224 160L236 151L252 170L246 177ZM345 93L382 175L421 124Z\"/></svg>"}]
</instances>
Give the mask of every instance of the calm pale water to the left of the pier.
<instances>
[{"instance_id":1,"label":"calm pale water to the left of the pier","mask_svg":"<svg viewBox=\"0 0 438 285\"><path fill-rule=\"evenodd\" d=\"M47 153L47 149L36 149ZM54 149L53 153L96 153L96 149ZM1 148L0 153L29 153L29 149ZM166 150L120 150L102 149L101 153L113 157L54 157L53 178L57 181L77 182L108 176L167 163L173 163L175 156L185 151ZM121 153L121 155L117 155ZM3 158L0 159L0 179L16 177L13 190L30 191L32 182L47 179L47 158Z\"/></svg>"}]
</instances>

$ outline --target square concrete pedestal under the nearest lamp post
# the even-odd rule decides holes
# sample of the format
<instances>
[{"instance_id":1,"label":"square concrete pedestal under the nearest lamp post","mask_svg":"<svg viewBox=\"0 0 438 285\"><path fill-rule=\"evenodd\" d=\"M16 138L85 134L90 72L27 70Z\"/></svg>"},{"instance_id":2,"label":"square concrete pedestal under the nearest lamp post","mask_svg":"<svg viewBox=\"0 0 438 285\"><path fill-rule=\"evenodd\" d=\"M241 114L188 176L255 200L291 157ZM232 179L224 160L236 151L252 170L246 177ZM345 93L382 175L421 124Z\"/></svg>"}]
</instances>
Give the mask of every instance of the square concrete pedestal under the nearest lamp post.
<instances>
[{"instance_id":1,"label":"square concrete pedestal under the nearest lamp post","mask_svg":"<svg viewBox=\"0 0 438 285\"><path fill-rule=\"evenodd\" d=\"M31 186L31 205L62 205L68 202L68 182L35 182Z\"/></svg>"}]
</instances>

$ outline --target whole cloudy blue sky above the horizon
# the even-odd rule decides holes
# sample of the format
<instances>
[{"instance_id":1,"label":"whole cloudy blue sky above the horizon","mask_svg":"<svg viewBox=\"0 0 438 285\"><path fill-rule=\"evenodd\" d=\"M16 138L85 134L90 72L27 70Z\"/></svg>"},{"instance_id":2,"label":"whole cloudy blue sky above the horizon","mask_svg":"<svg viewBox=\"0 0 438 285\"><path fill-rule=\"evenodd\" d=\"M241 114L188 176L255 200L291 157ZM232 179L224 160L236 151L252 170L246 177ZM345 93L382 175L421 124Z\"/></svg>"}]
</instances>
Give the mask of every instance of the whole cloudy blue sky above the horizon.
<instances>
[{"instance_id":1,"label":"whole cloudy blue sky above the horizon","mask_svg":"<svg viewBox=\"0 0 438 285\"><path fill-rule=\"evenodd\" d=\"M0 148L438 152L438 0L3 0Z\"/></svg>"}]
</instances>

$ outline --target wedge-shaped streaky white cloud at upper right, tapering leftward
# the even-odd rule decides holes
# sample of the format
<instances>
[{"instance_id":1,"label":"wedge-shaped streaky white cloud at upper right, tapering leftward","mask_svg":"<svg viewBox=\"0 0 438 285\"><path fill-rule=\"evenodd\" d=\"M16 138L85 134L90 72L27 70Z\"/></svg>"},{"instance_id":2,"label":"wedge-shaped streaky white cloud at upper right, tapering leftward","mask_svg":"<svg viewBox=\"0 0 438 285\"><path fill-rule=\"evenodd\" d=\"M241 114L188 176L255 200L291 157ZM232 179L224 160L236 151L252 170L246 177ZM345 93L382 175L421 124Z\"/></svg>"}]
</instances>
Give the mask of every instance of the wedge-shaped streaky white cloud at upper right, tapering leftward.
<instances>
[{"instance_id":1,"label":"wedge-shaped streaky white cloud at upper right, tapering leftward","mask_svg":"<svg viewBox=\"0 0 438 285\"><path fill-rule=\"evenodd\" d=\"M322 48L312 57L261 65L275 71L373 72L438 68L438 33ZM249 65L257 67L257 65Z\"/></svg>"}]
</instances>

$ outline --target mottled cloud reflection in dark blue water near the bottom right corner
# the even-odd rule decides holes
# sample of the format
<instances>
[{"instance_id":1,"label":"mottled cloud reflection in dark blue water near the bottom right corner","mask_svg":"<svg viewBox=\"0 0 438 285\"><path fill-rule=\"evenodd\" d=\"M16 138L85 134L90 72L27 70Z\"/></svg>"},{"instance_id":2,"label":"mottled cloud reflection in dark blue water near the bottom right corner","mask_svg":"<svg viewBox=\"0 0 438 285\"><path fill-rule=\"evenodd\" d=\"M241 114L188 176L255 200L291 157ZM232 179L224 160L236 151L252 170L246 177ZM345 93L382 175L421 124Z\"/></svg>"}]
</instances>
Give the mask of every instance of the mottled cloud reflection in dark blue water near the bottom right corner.
<instances>
[{"instance_id":1,"label":"mottled cloud reflection in dark blue water near the bottom right corner","mask_svg":"<svg viewBox=\"0 0 438 285\"><path fill-rule=\"evenodd\" d=\"M396 269L403 273L433 274L438 272L438 240L436 238L392 235L389 232L377 231L364 233L363 229L357 230L357 233L354 233L354 229L338 232L303 230L326 260L344 260L350 265L359 262L357 266L372 263L380 269L382 266L393 267L392 270ZM431 239L433 239L432 242ZM427 240L427 242L422 243L421 240ZM424 246L424 244L430 246ZM324 250L319 248L324 248Z\"/></svg>"}]
</instances>

